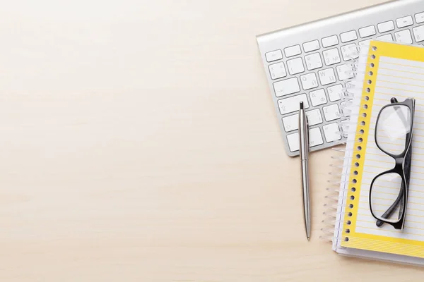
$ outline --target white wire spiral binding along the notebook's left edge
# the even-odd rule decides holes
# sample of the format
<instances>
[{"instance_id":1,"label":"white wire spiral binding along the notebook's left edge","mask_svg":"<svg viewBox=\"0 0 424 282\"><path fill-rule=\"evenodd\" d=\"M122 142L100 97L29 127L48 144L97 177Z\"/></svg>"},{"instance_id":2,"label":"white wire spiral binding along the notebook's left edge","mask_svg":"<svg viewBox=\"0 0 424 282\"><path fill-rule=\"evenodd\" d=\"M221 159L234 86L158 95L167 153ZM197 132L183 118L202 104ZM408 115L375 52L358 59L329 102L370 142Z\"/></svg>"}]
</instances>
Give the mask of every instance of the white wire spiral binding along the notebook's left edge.
<instances>
[{"instance_id":1,"label":"white wire spiral binding along the notebook's left edge","mask_svg":"<svg viewBox=\"0 0 424 282\"><path fill-rule=\"evenodd\" d=\"M351 109L349 109L349 106L353 104L354 99L365 99L367 100L367 97L363 98L362 95L360 97L355 96L355 93L353 90L363 90L363 79L358 79L358 75L361 75L361 77L365 77L365 73L358 73L358 66L359 66L359 58L361 56L367 56L367 55L361 55L361 49L366 48L369 49L369 45L355 45L353 47L353 52L350 52L351 54L355 54L355 58L351 56L351 66L352 70L348 71L353 74L353 78L351 80L348 80L346 82L346 86L343 87L343 97L341 97L341 120L338 121L338 127L342 128L342 130L338 133L343 135L344 137L347 137L349 134L357 134L356 132L356 121L351 121L352 117L358 116L358 114L353 114L351 112ZM355 86L355 83L357 82L360 84L360 86ZM371 83L370 81L368 82ZM360 118L365 116L358 116ZM359 133L360 134L360 133ZM346 183L346 181L342 181L342 176L347 176L346 173L343 173L345 168L351 168L352 162L349 158L346 162L347 165L344 164L345 161L345 152L346 152L346 143L347 138L342 138L338 143L345 145L345 147L335 147L332 148L334 152L334 156L331 157L331 164L330 164L330 172L329 172L329 180L327 180L328 187L327 195L325 197L325 204L324 204L324 220L322 221L322 235L320 238L322 240L326 240L328 242L334 243L334 240L338 240L341 238L341 236L335 236L335 231L341 231L341 228L338 228L340 226L339 223L343 221L343 214L345 214L344 207L341 207L340 204L338 204L338 200L341 197L341 184ZM353 165L355 166L355 164ZM348 185L343 185L343 194L344 192L347 192L349 189L347 187ZM353 188L355 189L355 188ZM343 205L346 204L343 202ZM346 223L350 224L350 222L346 221ZM347 229L345 233L348 233L349 230ZM348 238L343 238L343 240L348 240Z\"/></svg>"}]
</instances>

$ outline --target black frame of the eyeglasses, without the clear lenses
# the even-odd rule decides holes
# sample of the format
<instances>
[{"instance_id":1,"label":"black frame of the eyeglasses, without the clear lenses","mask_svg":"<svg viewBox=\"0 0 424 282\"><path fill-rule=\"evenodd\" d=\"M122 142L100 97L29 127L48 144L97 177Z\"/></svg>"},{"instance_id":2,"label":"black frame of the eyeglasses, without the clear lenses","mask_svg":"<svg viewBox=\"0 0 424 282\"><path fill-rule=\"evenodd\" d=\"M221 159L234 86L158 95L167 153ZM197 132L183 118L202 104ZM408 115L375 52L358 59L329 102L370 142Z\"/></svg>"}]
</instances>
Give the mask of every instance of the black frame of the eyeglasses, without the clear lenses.
<instances>
[{"instance_id":1,"label":"black frame of the eyeglasses, without the clear lenses","mask_svg":"<svg viewBox=\"0 0 424 282\"><path fill-rule=\"evenodd\" d=\"M376 223L377 226L382 226L383 223L387 223L393 226L395 229L404 228L405 216L406 216L406 204L408 202L408 188L409 188L409 179L410 179L409 176L411 174L411 157L412 157L411 143L412 143L412 137L413 137L413 117L415 114L415 104L416 104L416 100L413 98L405 99L404 102L398 102L396 98L392 98L391 104L387 104L386 106L383 106L382 109L380 109L377 116L377 121L375 123L375 134L374 134L375 145L377 145L377 147L382 152L384 152L384 154L387 154L388 156L392 157L395 161L394 168L391 168L388 171L379 173L377 176L375 176L375 178L372 179L372 182L370 185L370 197L369 197L370 212L372 216L374 216L374 218L377 219L377 223ZM384 149L382 149L382 147L379 146L377 141L377 130L378 130L380 115L382 114L382 111L384 109L387 109L389 106L407 106L411 114L411 124L410 124L411 128L409 129L409 132L406 134L405 149L404 149L404 152L401 152L401 154L391 154L390 152L386 152ZM380 176L384 176L385 174L388 174L388 173L396 173L399 176L401 176L401 180L402 180L401 190L399 192L398 197L394 201L394 203L391 204L391 207L389 207L389 209L387 209L387 211L384 212L384 214L382 214L381 217L377 217L372 211L372 204L371 204L372 186L374 185L374 182L377 178L379 178ZM391 216L391 214L393 214L393 212L396 210L396 207L398 207L399 204L401 204L399 212L402 213L399 220L385 221L384 219L388 219Z\"/></svg>"}]
</instances>

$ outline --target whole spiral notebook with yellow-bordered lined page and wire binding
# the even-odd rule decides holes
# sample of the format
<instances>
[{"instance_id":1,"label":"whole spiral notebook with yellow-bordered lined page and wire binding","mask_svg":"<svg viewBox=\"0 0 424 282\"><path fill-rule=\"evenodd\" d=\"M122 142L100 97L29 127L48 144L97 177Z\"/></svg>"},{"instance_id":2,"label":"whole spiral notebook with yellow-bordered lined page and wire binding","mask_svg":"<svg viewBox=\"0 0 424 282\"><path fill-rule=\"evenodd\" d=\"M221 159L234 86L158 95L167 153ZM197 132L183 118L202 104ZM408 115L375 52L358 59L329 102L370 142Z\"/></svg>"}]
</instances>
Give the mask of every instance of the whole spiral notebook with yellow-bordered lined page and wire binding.
<instances>
[{"instance_id":1,"label":"whole spiral notebook with yellow-bordered lined page and wire binding","mask_svg":"<svg viewBox=\"0 0 424 282\"><path fill-rule=\"evenodd\" d=\"M334 226L333 250L341 255L424 265L424 48L371 41L358 47L355 78L346 84L341 121L346 149L334 149L333 185L327 197L326 224ZM370 183L394 167L375 145L375 123L391 97L416 99L411 182L404 229L376 226L370 212ZM344 154L344 156L343 156ZM334 201L334 202L331 202ZM324 228L325 229L325 228Z\"/></svg>"}]
</instances>

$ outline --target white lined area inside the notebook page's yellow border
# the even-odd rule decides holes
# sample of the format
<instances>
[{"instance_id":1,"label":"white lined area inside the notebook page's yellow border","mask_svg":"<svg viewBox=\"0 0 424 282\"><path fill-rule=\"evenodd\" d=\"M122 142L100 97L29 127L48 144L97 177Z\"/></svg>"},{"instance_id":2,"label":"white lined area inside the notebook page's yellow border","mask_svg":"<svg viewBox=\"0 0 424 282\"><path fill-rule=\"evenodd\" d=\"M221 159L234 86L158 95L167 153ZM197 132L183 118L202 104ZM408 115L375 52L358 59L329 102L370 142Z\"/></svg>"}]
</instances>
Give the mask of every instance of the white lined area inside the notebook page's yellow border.
<instances>
[{"instance_id":1,"label":"white lined area inside the notebook page's yellow border","mask_svg":"<svg viewBox=\"0 0 424 282\"><path fill-rule=\"evenodd\" d=\"M379 110L390 103L391 97L396 97L399 102L403 102L408 97L416 99L411 181L403 231L396 231L389 224L377 227L376 220L371 215L369 203L372 179L378 173L394 167L394 159L384 154L375 145L374 136ZM404 145L393 144L387 140L385 146ZM393 185L393 183L387 183L384 192L390 193ZM380 57L355 232L424 241L424 63L422 62Z\"/></svg>"}]
</instances>

